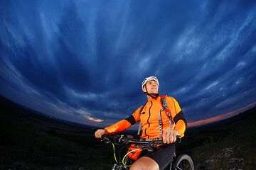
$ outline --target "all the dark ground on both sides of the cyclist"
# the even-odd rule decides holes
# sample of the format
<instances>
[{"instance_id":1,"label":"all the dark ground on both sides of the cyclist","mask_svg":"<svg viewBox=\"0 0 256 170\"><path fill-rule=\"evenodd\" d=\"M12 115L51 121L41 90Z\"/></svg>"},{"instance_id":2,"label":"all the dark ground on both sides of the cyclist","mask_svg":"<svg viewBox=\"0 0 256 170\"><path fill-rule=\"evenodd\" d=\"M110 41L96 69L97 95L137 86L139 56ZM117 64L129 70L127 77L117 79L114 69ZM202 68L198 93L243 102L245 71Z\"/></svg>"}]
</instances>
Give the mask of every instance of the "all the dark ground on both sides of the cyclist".
<instances>
[{"instance_id":1,"label":"all the dark ground on both sides of the cyclist","mask_svg":"<svg viewBox=\"0 0 256 170\"><path fill-rule=\"evenodd\" d=\"M114 164L112 145L95 140L91 128L50 118L1 96L0 108L0 169L111 169ZM256 169L255 111L188 129L177 155L189 154L198 170Z\"/></svg>"}]
</instances>

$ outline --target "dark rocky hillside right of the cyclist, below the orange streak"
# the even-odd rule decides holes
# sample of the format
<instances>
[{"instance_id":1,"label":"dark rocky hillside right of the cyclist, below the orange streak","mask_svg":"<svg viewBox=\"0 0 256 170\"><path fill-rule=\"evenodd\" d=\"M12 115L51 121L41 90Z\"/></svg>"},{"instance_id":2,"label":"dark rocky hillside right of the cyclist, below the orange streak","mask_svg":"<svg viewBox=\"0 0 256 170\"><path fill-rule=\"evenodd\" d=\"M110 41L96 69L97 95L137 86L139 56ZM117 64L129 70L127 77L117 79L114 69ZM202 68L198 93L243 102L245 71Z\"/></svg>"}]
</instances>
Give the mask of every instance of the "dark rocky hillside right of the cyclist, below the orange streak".
<instances>
[{"instance_id":1,"label":"dark rocky hillside right of the cyclist, below the orange streak","mask_svg":"<svg viewBox=\"0 0 256 170\"><path fill-rule=\"evenodd\" d=\"M256 169L256 107L217 123L187 130L178 149L198 170Z\"/></svg>"}]
</instances>

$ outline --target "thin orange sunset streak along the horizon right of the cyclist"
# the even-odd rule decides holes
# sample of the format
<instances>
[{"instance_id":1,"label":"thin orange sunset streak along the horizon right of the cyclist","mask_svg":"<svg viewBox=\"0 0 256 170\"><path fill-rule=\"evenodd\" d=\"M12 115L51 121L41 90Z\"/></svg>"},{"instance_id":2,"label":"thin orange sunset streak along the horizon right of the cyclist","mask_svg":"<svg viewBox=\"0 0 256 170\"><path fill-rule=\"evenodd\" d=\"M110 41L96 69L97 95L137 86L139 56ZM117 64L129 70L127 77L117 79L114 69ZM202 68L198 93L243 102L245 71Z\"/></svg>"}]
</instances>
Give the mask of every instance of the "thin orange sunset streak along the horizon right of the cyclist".
<instances>
[{"instance_id":1,"label":"thin orange sunset streak along the horizon right of the cyclist","mask_svg":"<svg viewBox=\"0 0 256 170\"><path fill-rule=\"evenodd\" d=\"M255 102L256 103L256 102ZM248 106L245 106L243 108L240 108L238 109L237 111L233 111L233 112L230 112L230 113L226 113L224 115L218 115L214 118L208 118L206 120L199 120L197 122L193 122L193 123L188 123L188 127L193 127L193 126L198 126L198 125L204 125L204 124L207 124L207 123L213 123L213 122L216 122L216 121L220 121L220 120L223 120L223 119L226 119L226 118L230 118L234 115L238 115L240 113L240 111L245 111L245 109L247 109L248 107L250 106L253 106L255 105L255 103L252 103Z\"/></svg>"}]
</instances>

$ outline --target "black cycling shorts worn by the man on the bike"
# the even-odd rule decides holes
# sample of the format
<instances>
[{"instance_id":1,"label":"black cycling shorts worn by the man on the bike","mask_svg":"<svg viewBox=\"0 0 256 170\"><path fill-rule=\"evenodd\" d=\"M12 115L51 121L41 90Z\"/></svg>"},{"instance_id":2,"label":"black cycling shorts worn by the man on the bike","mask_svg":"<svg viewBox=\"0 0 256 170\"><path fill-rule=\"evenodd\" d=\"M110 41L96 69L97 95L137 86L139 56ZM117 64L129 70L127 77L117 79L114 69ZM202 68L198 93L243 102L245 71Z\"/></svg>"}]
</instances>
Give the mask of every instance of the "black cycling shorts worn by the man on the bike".
<instances>
[{"instance_id":1,"label":"black cycling shorts worn by the man on the bike","mask_svg":"<svg viewBox=\"0 0 256 170\"><path fill-rule=\"evenodd\" d=\"M154 152L142 153L140 157L150 157L159 165L159 169L164 169L174 157L175 144L160 147Z\"/></svg>"}]
</instances>

